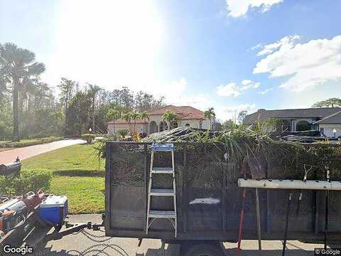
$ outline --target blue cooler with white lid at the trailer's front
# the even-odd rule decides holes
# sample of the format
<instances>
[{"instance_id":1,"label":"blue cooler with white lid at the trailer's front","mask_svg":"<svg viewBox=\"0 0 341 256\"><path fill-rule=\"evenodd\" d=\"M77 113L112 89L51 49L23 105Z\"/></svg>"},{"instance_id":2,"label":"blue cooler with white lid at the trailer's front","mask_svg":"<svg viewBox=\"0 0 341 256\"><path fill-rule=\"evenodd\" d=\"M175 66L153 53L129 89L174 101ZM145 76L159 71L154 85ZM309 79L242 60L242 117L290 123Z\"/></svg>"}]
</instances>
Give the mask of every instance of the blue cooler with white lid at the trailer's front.
<instances>
[{"instance_id":1,"label":"blue cooler with white lid at the trailer's front","mask_svg":"<svg viewBox=\"0 0 341 256\"><path fill-rule=\"evenodd\" d=\"M61 225L67 215L66 196L48 196L40 203L40 219L50 225Z\"/></svg>"}]
</instances>

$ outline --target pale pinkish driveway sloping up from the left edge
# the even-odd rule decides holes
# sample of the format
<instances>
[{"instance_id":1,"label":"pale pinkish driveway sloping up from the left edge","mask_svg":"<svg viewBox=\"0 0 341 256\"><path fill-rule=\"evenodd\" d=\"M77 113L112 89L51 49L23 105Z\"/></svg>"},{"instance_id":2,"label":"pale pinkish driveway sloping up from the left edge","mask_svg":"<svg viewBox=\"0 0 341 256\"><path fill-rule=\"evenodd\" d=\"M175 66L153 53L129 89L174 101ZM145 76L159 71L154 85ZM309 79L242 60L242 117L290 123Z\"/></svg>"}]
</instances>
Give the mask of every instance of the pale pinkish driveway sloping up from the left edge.
<instances>
[{"instance_id":1,"label":"pale pinkish driveway sloping up from the left edge","mask_svg":"<svg viewBox=\"0 0 341 256\"><path fill-rule=\"evenodd\" d=\"M50 142L46 144L39 144L34 146L26 146L18 149L11 149L9 151L0 152L0 164L8 164L16 160L19 156L20 160L28 159L29 157L43 154L48 151L60 149L65 146L85 143L83 139L63 139L58 142Z\"/></svg>"}]
</instances>

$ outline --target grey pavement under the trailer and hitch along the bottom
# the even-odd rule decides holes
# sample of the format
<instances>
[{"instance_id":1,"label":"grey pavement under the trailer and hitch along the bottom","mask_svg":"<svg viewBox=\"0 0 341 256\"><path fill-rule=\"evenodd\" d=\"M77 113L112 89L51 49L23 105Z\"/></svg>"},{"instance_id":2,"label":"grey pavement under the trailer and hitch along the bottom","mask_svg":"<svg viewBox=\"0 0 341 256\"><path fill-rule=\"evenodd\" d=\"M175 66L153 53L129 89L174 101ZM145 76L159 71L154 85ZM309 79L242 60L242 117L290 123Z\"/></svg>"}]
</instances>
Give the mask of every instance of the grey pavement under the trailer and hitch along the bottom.
<instances>
[{"instance_id":1,"label":"grey pavement under the trailer and hitch along the bottom","mask_svg":"<svg viewBox=\"0 0 341 256\"><path fill-rule=\"evenodd\" d=\"M101 223L101 215L70 215L70 223ZM50 241L41 245L43 249L36 250L36 255L121 255L121 256L178 256L180 251L179 245L162 244L161 240L144 239L139 245L136 238L105 238L103 231L86 230L87 233L76 233L67 235L60 240ZM224 242L227 256L234 256L237 243ZM262 256L280 256L282 242L281 241L262 241L264 248ZM305 244L303 242L288 241L288 256L313 256L315 247L323 247L323 245ZM244 240L242 241L242 255L253 256L257 253L258 241ZM102 252L99 252L102 250ZM98 254L97 254L98 253Z\"/></svg>"}]
</instances>

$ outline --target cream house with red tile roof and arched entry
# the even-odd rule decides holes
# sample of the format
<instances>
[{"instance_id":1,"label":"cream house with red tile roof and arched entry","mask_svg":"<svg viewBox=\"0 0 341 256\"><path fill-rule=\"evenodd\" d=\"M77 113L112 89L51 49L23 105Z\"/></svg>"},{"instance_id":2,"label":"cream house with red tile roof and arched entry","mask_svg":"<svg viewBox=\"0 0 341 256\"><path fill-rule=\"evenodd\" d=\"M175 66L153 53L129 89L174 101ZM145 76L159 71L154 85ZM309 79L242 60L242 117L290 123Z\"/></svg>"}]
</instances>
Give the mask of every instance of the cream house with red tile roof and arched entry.
<instances>
[{"instance_id":1,"label":"cream house with red tile roof and arched entry","mask_svg":"<svg viewBox=\"0 0 341 256\"><path fill-rule=\"evenodd\" d=\"M162 119L163 114L167 111L174 112L178 114L178 121L173 124L169 124ZM114 132L121 129L131 129L138 133L152 134L154 132L162 132L168 128L174 129L176 127L193 127L199 129L214 129L215 120L205 118L205 113L201 110L197 110L195 107L190 106L174 106L168 105L166 107L161 107L156 110L151 110L148 112L150 115L149 119L136 119L136 124L134 120L131 120L129 127L128 122L124 119L118 119L115 122L107 122L108 134L114 134ZM171 127L170 127L171 126Z\"/></svg>"}]
</instances>

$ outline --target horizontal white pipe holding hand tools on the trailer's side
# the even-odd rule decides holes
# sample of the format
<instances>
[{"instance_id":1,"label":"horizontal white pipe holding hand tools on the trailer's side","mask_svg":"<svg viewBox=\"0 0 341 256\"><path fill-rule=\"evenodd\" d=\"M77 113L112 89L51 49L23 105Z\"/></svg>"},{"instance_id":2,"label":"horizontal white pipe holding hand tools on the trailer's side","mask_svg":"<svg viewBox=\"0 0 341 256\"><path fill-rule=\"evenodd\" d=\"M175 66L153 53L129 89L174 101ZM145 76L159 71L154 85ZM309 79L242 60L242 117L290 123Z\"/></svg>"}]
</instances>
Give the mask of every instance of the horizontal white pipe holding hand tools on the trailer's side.
<instances>
[{"instance_id":1,"label":"horizontal white pipe holding hand tools on the trailer's side","mask_svg":"<svg viewBox=\"0 0 341 256\"><path fill-rule=\"evenodd\" d=\"M308 190L330 190L340 191L340 181L300 181L300 180L278 180L248 178L238 179L239 188L272 188L272 189L308 189Z\"/></svg>"}]
</instances>

